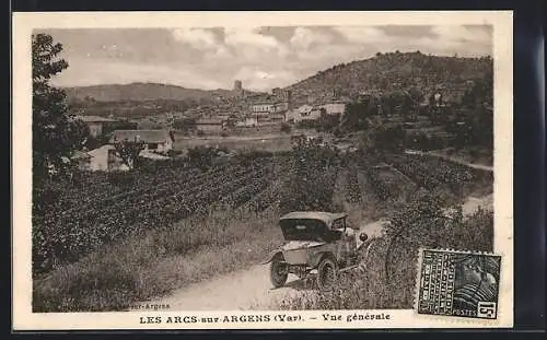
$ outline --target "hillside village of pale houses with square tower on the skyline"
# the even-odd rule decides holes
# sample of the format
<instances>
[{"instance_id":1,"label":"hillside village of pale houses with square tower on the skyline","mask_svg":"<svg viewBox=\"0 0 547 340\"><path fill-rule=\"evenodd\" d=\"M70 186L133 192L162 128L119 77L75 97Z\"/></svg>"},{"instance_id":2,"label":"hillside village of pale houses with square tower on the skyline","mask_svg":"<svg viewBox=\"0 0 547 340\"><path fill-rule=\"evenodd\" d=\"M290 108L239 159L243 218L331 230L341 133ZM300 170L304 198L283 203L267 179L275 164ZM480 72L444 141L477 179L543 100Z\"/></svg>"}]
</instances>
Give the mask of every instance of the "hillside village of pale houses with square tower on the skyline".
<instances>
[{"instance_id":1,"label":"hillside village of pale houses with square tower on the skyline","mask_svg":"<svg viewBox=\"0 0 547 340\"><path fill-rule=\"evenodd\" d=\"M142 119L123 119L78 115L85 122L90 138L102 140L96 149L74 153L72 161L86 171L127 171L117 155L114 144L119 141L140 141L144 144L140 156L165 160L173 151L184 153L197 145L216 145L230 141L247 141L260 144L266 140L283 143L288 132L303 122L331 116L339 119L346 112L346 103L334 98L296 105L290 91L274 89L271 93L248 94L236 80L232 96L218 97L218 104L198 106L184 113L165 113ZM152 127L152 128L151 128ZM305 128L307 134L313 131ZM283 133L284 130L284 133ZM284 143L288 144L288 143Z\"/></svg>"}]
</instances>

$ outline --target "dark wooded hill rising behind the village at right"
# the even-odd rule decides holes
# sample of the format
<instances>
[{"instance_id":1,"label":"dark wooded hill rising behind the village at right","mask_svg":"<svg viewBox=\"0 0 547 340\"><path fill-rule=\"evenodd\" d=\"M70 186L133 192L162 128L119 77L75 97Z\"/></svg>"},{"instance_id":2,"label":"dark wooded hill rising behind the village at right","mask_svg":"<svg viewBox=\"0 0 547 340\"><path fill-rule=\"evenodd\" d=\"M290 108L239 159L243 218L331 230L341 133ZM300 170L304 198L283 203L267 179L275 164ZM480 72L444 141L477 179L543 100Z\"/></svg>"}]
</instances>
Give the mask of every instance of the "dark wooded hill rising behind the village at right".
<instances>
[{"instance_id":1,"label":"dark wooded hill rising behind the village at right","mask_svg":"<svg viewBox=\"0 0 547 340\"><path fill-rule=\"evenodd\" d=\"M473 82L492 74L492 59L437 57L417 52L377 54L365 60L337 65L292 84L295 103L360 93L418 89L426 96L441 89L447 102L458 102Z\"/></svg>"}]
</instances>

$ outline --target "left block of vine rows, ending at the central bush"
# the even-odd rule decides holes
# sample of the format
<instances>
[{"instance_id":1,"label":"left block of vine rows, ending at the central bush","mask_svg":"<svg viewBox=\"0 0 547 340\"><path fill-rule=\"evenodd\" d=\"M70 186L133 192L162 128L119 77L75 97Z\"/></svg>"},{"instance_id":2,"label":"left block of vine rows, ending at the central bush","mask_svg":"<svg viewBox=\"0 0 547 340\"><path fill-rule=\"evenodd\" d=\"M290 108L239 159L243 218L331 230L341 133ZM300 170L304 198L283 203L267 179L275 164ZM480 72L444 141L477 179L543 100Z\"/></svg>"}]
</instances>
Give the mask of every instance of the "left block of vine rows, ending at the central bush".
<instances>
[{"instance_id":1,"label":"left block of vine rows, ending at the central bush","mask_svg":"<svg viewBox=\"0 0 547 340\"><path fill-rule=\"evenodd\" d=\"M119 174L133 177L132 183L120 185L112 185L104 174L90 174L72 187L43 189L33 207L35 271L47 269L51 260L74 261L103 244L218 207L246 204L260 212L277 201L276 195L264 194L280 173L288 172L286 164L284 157L264 157L205 172L166 166L151 173ZM196 246L188 245L188 250Z\"/></svg>"}]
</instances>

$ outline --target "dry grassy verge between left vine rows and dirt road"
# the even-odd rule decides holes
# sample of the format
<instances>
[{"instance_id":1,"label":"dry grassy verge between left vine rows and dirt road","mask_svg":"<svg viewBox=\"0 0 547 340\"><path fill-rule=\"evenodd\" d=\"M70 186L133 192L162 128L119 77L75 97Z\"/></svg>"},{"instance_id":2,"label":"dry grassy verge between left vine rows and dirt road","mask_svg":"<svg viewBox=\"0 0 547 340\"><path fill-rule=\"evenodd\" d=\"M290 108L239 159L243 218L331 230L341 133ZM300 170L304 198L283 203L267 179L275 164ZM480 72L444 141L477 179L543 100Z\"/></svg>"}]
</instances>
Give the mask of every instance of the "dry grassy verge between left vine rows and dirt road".
<instances>
[{"instance_id":1,"label":"dry grassy verge between left vine rows and dirt road","mask_svg":"<svg viewBox=\"0 0 547 340\"><path fill-rule=\"evenodd\" d=\"M281 242L277 212L222 212L103 247L34 280L33 310L106 312L261 260Z\"/></svg>"}]
</instances>

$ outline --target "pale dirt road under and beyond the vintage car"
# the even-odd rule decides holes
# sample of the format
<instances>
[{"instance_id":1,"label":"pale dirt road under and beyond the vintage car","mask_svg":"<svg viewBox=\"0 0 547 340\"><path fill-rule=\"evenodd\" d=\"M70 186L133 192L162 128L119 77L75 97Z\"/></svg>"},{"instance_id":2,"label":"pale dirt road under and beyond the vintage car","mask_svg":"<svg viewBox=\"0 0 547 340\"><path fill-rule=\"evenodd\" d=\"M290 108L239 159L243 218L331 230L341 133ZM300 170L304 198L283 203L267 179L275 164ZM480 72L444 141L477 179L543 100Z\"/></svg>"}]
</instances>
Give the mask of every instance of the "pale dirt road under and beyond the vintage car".
<instances>
[{"instance_id":1,"label":"pale dirt road under and beyond the vintage car","mask_svg":"<svg viewBox=\"0 0 547 340\"><path fill-rule=\"evenodd\" d=\"M464 203L464 214L475 212L478 207L490 208L492 197L469 198ZM361 226L370 237L380 236L383 222L377 221ZM359 234L359 233L358 233ZM170 310L244 310L277 309L276 305L299 291L310 289L310 282L289 275L286 286L271 289L268 266L255 265L211 280L199 282L175 291L168 296L149 304L170 305Z\"/></svg>"}]
</instances>

